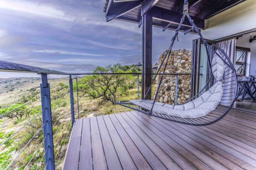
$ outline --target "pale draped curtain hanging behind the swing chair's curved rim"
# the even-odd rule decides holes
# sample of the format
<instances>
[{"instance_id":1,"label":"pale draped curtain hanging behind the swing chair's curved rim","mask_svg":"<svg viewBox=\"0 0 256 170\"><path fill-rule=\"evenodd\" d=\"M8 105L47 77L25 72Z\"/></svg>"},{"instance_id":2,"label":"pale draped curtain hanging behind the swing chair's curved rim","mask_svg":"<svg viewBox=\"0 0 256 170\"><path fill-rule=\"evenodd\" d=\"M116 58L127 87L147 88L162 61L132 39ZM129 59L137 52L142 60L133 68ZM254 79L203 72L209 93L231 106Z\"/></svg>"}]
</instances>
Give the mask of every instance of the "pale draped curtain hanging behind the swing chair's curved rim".
<instances>
[{"instance_id":1,"label":"pale draped curtain hanging behind the swing chair's curved rim","mask_svg":"<svg viewBox=\"0 0 256 170\"><path fill-rule=\"evenodd\" d=\"M230 61L232 62L233 65L236 64L236 37L233 38L228 38L225 40L221 40L216 42L216 45L220 47L230 58ZM234 77L233 77L233 70L228 71L230 68L225 69L225 82L224 82L224 94L222 95L223 97L221 98L221 105L229 106L230 102L233 100L234 96L234 87L233 85L235 83Z\"/></svg>"}]
</instances>

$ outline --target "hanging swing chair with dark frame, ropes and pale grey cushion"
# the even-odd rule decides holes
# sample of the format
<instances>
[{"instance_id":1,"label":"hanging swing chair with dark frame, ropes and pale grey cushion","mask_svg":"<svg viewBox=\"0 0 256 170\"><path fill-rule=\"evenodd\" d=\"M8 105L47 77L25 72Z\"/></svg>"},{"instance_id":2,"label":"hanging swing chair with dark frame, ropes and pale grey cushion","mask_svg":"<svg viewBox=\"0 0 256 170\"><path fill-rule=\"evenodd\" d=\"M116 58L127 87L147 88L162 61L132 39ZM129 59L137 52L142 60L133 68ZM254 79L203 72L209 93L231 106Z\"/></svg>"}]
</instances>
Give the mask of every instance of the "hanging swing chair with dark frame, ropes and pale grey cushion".
<instances>
[{"instance_id":1,"label":"hanging swing chair with dark frame, ropes and pale grey cushion","mask_svg":"<svg viewBox=\"0 0 256 170\"><path fill-rule=\"evenodd\" d=\"M180 26L187 17L195 31L204 43L207 52L210 75L204 88L191 99L181 105L169 105L156 102L157 94L166 71L167 61L171 55L172 46L177 38ZM166 64L163 63L166 61ZM160 68L163 72L160 73ZM175 30L169 50L157 69L157 73L148 88L145 96L150 92L156 77L160 75L159 84L156 89L154 100L130 100L119 101L116 104L140 111L150 116L159 117L173 122L186 125L210 125L222 119L232 108L237 94L236 70L227 54L215 44L207 43L188 14L188 2L184 0L183 17Z\"/></svg>"}]
</instances>

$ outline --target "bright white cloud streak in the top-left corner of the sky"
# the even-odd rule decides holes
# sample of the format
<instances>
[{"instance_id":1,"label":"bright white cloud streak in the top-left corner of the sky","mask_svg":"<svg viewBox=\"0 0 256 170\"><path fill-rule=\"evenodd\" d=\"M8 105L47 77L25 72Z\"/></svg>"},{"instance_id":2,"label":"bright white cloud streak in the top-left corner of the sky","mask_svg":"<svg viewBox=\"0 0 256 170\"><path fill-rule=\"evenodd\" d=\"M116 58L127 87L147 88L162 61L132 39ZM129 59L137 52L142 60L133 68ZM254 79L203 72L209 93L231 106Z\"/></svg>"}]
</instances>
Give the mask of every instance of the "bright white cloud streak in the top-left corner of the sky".
<instances>
[{"instance_id":1,"label":"bright white cloud streak in the top-left corner of the sky","mask_svg":"<svg viewBox=\"0 0 256 170\"><path fill-rule=\"evenodd\" d=\"M64 11L58 10L51 6L24 0L0 0L0 8L40 15L43 17L52 17L61 20L74 20L74 18L65 15Z\"/></svg>"}]
</instances>

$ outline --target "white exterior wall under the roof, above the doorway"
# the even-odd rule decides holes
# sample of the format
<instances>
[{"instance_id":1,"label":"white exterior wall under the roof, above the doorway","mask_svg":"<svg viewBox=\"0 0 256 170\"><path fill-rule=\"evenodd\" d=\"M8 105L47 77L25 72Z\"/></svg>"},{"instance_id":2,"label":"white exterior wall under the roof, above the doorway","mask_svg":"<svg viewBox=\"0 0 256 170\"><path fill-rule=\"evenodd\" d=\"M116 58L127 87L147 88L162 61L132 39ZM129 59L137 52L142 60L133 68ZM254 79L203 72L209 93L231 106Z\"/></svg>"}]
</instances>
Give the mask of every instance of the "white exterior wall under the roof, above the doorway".
<instances>
[{"instance_id":1,"label":"white exterior wall under the roof, above the doorway","mask_svg":"<svg viewBox=\"0 0 256 170\"><path fill-rule=\"evenodd\" d=\"M206 20L204 38L218 40L256 29L256 0L247 0Z\"/></svg>"}]
</instances>

